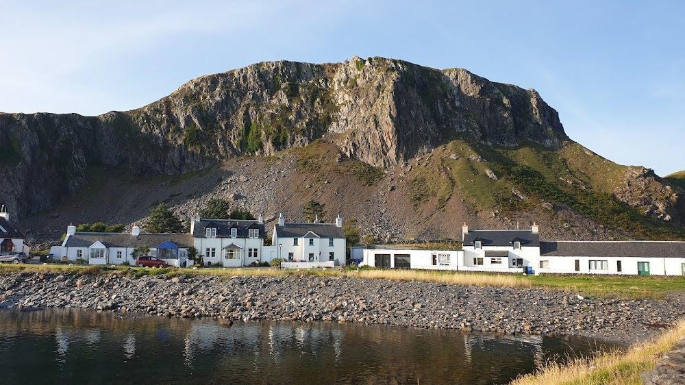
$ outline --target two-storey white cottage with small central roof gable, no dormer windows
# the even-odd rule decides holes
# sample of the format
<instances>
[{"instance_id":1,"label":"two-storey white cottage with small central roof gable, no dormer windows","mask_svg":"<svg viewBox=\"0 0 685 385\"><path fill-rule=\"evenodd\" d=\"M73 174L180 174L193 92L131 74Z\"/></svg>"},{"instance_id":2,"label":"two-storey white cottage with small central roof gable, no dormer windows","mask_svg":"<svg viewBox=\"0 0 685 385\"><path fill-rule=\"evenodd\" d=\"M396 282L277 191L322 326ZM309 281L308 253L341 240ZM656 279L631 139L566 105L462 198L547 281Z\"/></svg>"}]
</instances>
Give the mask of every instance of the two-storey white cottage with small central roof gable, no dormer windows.
<instances>
[{"instance_id":1,"label":"two-storey white cottage with small central roof gable, no dormer windows","mask_svg":"<svg viewBox=\"0 0 685 385\"><path fill-rule=\"evenodd\" d=\"M273 225L273 246L286 262L345 264L343 219L336 223L286 223L283 213Z\"/></svg>"}]
</instances>

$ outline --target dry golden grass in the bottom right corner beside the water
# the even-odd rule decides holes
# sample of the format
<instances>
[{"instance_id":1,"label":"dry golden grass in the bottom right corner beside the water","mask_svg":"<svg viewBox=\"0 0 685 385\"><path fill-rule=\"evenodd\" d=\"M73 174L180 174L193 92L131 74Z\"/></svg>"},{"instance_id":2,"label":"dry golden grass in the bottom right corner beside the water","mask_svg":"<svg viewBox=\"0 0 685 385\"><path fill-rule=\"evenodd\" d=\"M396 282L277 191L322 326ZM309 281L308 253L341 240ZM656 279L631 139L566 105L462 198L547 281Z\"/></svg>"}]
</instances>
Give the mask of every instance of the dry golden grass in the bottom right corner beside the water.
<instances>
[{"instance_id":1,"label":"dry golden grass in the bottom right corner beside the water","mask_svg":"<svg viewBox=\"0 0 685 385\"><path fill-rule=\"evenodd\" d=\"M511 385L631 385L642 384L640 373L653 369L664 353L685 335L685 320L655 340L636 344L627 351L611 351L569 364L548 364L538 373L525 375Z\"/></svg>"}]
</instances>

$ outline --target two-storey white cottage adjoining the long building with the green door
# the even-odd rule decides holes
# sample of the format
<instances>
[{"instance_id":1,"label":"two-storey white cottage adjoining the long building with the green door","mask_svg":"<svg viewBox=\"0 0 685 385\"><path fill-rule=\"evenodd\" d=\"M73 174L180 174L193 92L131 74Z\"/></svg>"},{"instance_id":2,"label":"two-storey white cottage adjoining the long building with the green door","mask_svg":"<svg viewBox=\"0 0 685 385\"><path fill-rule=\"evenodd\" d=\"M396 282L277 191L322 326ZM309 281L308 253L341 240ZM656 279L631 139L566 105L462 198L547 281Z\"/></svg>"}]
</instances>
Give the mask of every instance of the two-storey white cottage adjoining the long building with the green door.
<instances>
[{"instance_id":1,"label":"two-storey white cottage adjoining the long building with the green door","mask_svg":"<svg viewBox=\"0 0 685 385\"><path fill-rule=\"evenodd\" d=\"M534 273L540 258L538 225L530 230L471 230L462 227L463 269Z\"/></svg>"}]
</instances>

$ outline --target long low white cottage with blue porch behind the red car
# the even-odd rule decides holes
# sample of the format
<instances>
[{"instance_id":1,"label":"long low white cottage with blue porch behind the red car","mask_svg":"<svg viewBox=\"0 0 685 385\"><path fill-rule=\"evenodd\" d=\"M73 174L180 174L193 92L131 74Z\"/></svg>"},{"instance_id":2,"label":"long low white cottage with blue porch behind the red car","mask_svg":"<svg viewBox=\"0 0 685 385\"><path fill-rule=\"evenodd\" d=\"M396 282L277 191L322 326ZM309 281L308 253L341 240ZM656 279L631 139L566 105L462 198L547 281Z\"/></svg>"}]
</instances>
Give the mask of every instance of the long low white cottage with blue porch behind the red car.
<instances>
[{"instance_id":1,"label":"long low white cottage with blue porch behind the red car","mask_svg":"<svg viewBox=\"0 0 685 385\"><path fill-rule=\"evenodd\" d=\"M76 226L69 225L57 255L61 255L62 259L84 260L90 264L134 264L136 260L131 256L134 249L147 247L148 255L157 256L171 266L182 266L188 259L188 248L192 245L190 234L141 233L137 225L130 233L76 232Z\"/></svg>"}]
</instances>

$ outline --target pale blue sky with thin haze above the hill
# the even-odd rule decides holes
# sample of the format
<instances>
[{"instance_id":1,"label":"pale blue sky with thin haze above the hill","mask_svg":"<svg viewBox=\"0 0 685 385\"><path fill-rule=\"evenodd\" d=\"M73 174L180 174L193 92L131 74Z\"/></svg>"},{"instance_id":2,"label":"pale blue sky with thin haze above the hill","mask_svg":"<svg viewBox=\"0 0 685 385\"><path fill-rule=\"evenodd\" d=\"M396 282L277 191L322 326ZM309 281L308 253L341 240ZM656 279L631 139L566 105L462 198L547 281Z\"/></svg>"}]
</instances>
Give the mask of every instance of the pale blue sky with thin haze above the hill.
<instances>
[{"instance_id":1,"label":"pale blue sky with thin haze above the hill","mask_svg":"<svg viewBox=\"0 0 685 385\"><path fill-rule=\"evenodd\" d=\"M683 1L0 0L0 111L131 110L255 62L352 55L535 88L575 141L685 170Z\"/></svg>"}]
</instances>

